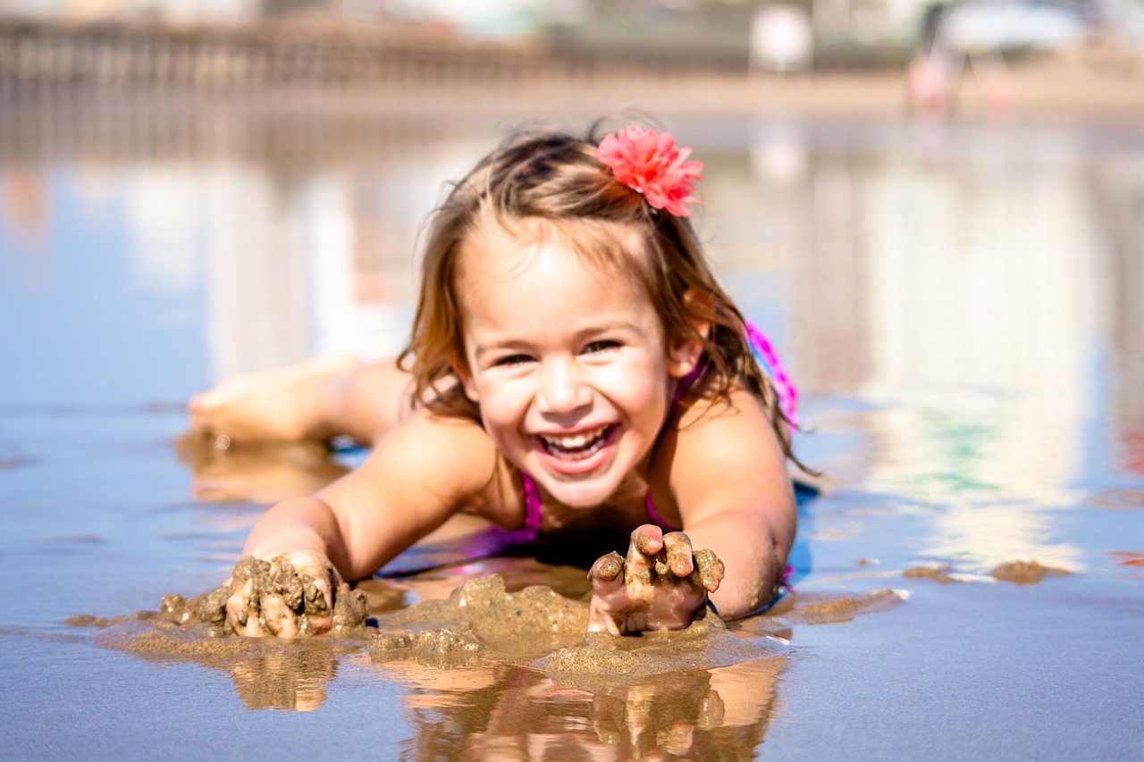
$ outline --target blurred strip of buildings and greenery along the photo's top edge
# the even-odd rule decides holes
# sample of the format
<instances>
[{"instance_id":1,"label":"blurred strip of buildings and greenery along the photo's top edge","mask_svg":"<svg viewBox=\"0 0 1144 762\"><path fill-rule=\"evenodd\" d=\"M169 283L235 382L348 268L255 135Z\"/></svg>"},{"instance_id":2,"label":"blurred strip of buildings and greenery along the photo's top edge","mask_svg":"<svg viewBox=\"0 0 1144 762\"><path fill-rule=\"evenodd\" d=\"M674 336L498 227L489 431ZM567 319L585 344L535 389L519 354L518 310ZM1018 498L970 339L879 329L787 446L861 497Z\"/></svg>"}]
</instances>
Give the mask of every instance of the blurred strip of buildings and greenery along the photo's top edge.
<instances>
[{"instance_id":1,"label":"blurred strip of buildings and greenery along the photo's top edge","mask_svg":"<svg viewBox=\"0 0 1144 762\"><path fill-rule=\"evenodd\" d=\"M116 48L95 70L77 50L18 51L17 77L214 84L360 80L403 58L468 58L485 76L893 66L935 38L1014 56L1099 48L1111 65L1144 40L1139 0L3 0L0 14L25 50L35 35Z\"/></svg>"}]
</instances>

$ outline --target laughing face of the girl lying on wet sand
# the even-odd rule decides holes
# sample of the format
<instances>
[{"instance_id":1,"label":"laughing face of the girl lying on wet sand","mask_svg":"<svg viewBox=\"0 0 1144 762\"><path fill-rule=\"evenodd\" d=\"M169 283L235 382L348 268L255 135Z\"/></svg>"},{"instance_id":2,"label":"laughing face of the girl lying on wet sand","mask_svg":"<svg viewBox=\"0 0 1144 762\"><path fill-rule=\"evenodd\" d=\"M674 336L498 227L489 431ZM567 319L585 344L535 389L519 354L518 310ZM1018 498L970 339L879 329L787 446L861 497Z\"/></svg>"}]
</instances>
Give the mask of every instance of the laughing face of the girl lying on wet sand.
<instances>
[{"instance_id":1,"label":"laughing face of the girl lying on wet sand","mask_svg":"<svg viewBox=\"0 0 1144 762\"><path fill-rule=\"evenodd\" d=\"M669 356L643 285L622 267L586 267L553 238L464 246L459 374L509 462L561 502L590 507L645 462L699 349L673 342Z\"/></svg>"}]
</instances>

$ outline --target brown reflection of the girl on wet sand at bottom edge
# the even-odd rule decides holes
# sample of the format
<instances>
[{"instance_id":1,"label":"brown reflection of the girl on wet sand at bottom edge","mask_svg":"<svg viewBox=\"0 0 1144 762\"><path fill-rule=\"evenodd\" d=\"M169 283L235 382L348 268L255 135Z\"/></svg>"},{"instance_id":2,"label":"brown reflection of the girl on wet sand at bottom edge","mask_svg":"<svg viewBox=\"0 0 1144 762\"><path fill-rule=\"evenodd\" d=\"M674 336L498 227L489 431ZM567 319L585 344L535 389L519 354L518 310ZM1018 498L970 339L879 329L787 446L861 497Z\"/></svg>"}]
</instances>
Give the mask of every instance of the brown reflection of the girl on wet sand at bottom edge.
<instances>
[{"instance_id":1,"label":"brown reflection of the girl on wet sand at bottom edge","mask_svg":"<svg viewBox=\"0 0 1144 762\"><path fill-rule=\"evenodd\" d=\"M416 735L402 759L755 759L774 711L781 657L675 672L612 688L558 685L530 667L442 670L389 662L408 685Z\"/></svg>"}]
</instances>

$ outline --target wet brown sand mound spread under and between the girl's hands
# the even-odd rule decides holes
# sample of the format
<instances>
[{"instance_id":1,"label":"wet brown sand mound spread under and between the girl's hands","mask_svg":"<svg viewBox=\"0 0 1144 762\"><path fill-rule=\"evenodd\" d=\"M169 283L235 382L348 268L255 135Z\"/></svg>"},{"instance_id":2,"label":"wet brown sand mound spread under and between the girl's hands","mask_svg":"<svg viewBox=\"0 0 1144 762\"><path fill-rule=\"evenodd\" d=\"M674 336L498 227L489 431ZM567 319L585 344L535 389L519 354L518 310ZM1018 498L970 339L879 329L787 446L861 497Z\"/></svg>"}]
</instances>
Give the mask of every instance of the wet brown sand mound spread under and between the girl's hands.
<instances>
[{"instance_id":1,"label":"wet brown sand mound spread under and between the girl's hands","mask_svg":"<svg viewBox=\"0 0 1144 762\"><path fill-rule=\"evenodd\" d=\"M326 665L335 653L358 651L363 644L371 661L379 665L413 661L440 669L514 665L538 669L557 685L579 688L637 684L652 675L728 667L789 650L786 641L770 632L729 630L709 604L680 630L626 636L588 633L585 601L542 585L509 593L495 573L468 580L447 600L423 601L368 621L364 593L342 585L329 633L333 640L232 637L227 600L233 586L247 581L260 595L281 596L300 617L311 610L321 612L317 596L309 593L312 580L291 569L283 571L285 566L279 564L271 571L267 562L244 558L231 580L204 595L188 598L170 594L164 596L159 611L113 619L73 617L70 624L97 627L93 640L104 648L223 668L235 674L244 691L255 690L249 686L264 680L246 675L270 669L259 666L263 662L280 666L296 661L295 672L302 676L294 682L301 685L307 683L303 673L309 674L312 661ZM257 616L253 606L251 616ZM316 649L329 658L315 656Z\"/></svg>"}]
</instances>

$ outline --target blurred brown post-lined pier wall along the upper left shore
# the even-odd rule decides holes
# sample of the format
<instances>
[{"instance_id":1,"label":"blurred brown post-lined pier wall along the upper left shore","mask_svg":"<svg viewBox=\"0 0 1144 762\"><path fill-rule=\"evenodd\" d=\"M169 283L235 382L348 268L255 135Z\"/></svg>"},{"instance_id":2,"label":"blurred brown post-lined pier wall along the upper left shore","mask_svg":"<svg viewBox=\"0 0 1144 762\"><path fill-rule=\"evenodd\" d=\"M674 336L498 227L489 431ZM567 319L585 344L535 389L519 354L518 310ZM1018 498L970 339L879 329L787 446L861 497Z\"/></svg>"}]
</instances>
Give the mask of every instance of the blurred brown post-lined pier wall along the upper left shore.
<instances>
[{"instance_id":1,"label":"blurred brown post-lined pier wall along the upper left shore","mask_svg":"<svg viewBox=\"0 0 1144 762\"><path fill-rule=\"evenodd\" d=\"M479 39L426 24L263 19L170 25L0 19L0 87L240 90L514 84L557 77L746 73L744 50L588 50L548 37Z\"/></svg>"}]
</instances>

